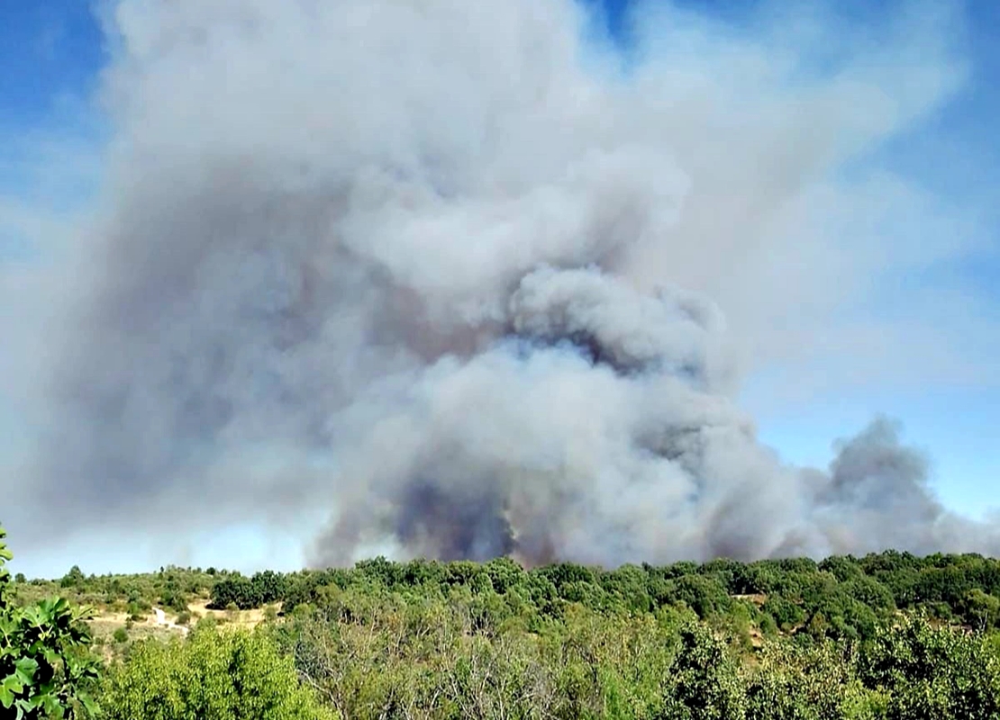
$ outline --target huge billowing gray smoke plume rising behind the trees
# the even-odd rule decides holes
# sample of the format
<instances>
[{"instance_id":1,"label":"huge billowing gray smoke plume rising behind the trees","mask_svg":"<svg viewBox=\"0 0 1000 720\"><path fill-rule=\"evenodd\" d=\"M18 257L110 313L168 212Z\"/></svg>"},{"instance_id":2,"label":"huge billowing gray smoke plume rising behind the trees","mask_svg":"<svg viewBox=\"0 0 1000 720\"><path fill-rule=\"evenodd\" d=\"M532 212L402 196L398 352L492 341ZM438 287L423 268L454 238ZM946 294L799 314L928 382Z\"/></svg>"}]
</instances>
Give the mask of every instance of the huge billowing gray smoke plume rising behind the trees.
<instances>
[{"instance_id":1,"label":"huge billowing gray smoke plume rising behind the trees","mask_svg":"<svg viewBox=\"0 0 1000 720\"><path fill-rule=\"evenodd\" d=\"M811 78L808 33L658 7L623 68L570 0L121 0L46 524L320 508L318 563L1000 551L887 420L801 469L733 399L881 262L807 200L946 96L945 49L904 23Z\"/></svg>"}]
</instances>

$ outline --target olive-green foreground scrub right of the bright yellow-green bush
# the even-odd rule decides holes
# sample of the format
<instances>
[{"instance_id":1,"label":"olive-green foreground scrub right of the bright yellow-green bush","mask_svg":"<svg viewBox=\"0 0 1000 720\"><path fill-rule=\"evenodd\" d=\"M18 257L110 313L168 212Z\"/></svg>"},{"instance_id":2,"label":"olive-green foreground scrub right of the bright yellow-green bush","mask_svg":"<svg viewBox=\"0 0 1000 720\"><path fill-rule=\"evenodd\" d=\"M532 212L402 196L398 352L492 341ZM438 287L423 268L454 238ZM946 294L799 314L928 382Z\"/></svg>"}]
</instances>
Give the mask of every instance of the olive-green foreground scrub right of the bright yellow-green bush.
<instances>
[{"instance_id":1,"label":"olive-green foreground scrub right of the bright yellow-green bush","mask_svg":"<svg viewBox=\"0 0 1000 720\"><path fill-rule=\"evenodd\" d=\"M925 618L867 640L812 635L747 647L737 615L698 620L578 602L559 616L455 585L444 597L336 586L272 635L350 718L1000 718L985 635Z\"/></svg>"}]
</instances>

